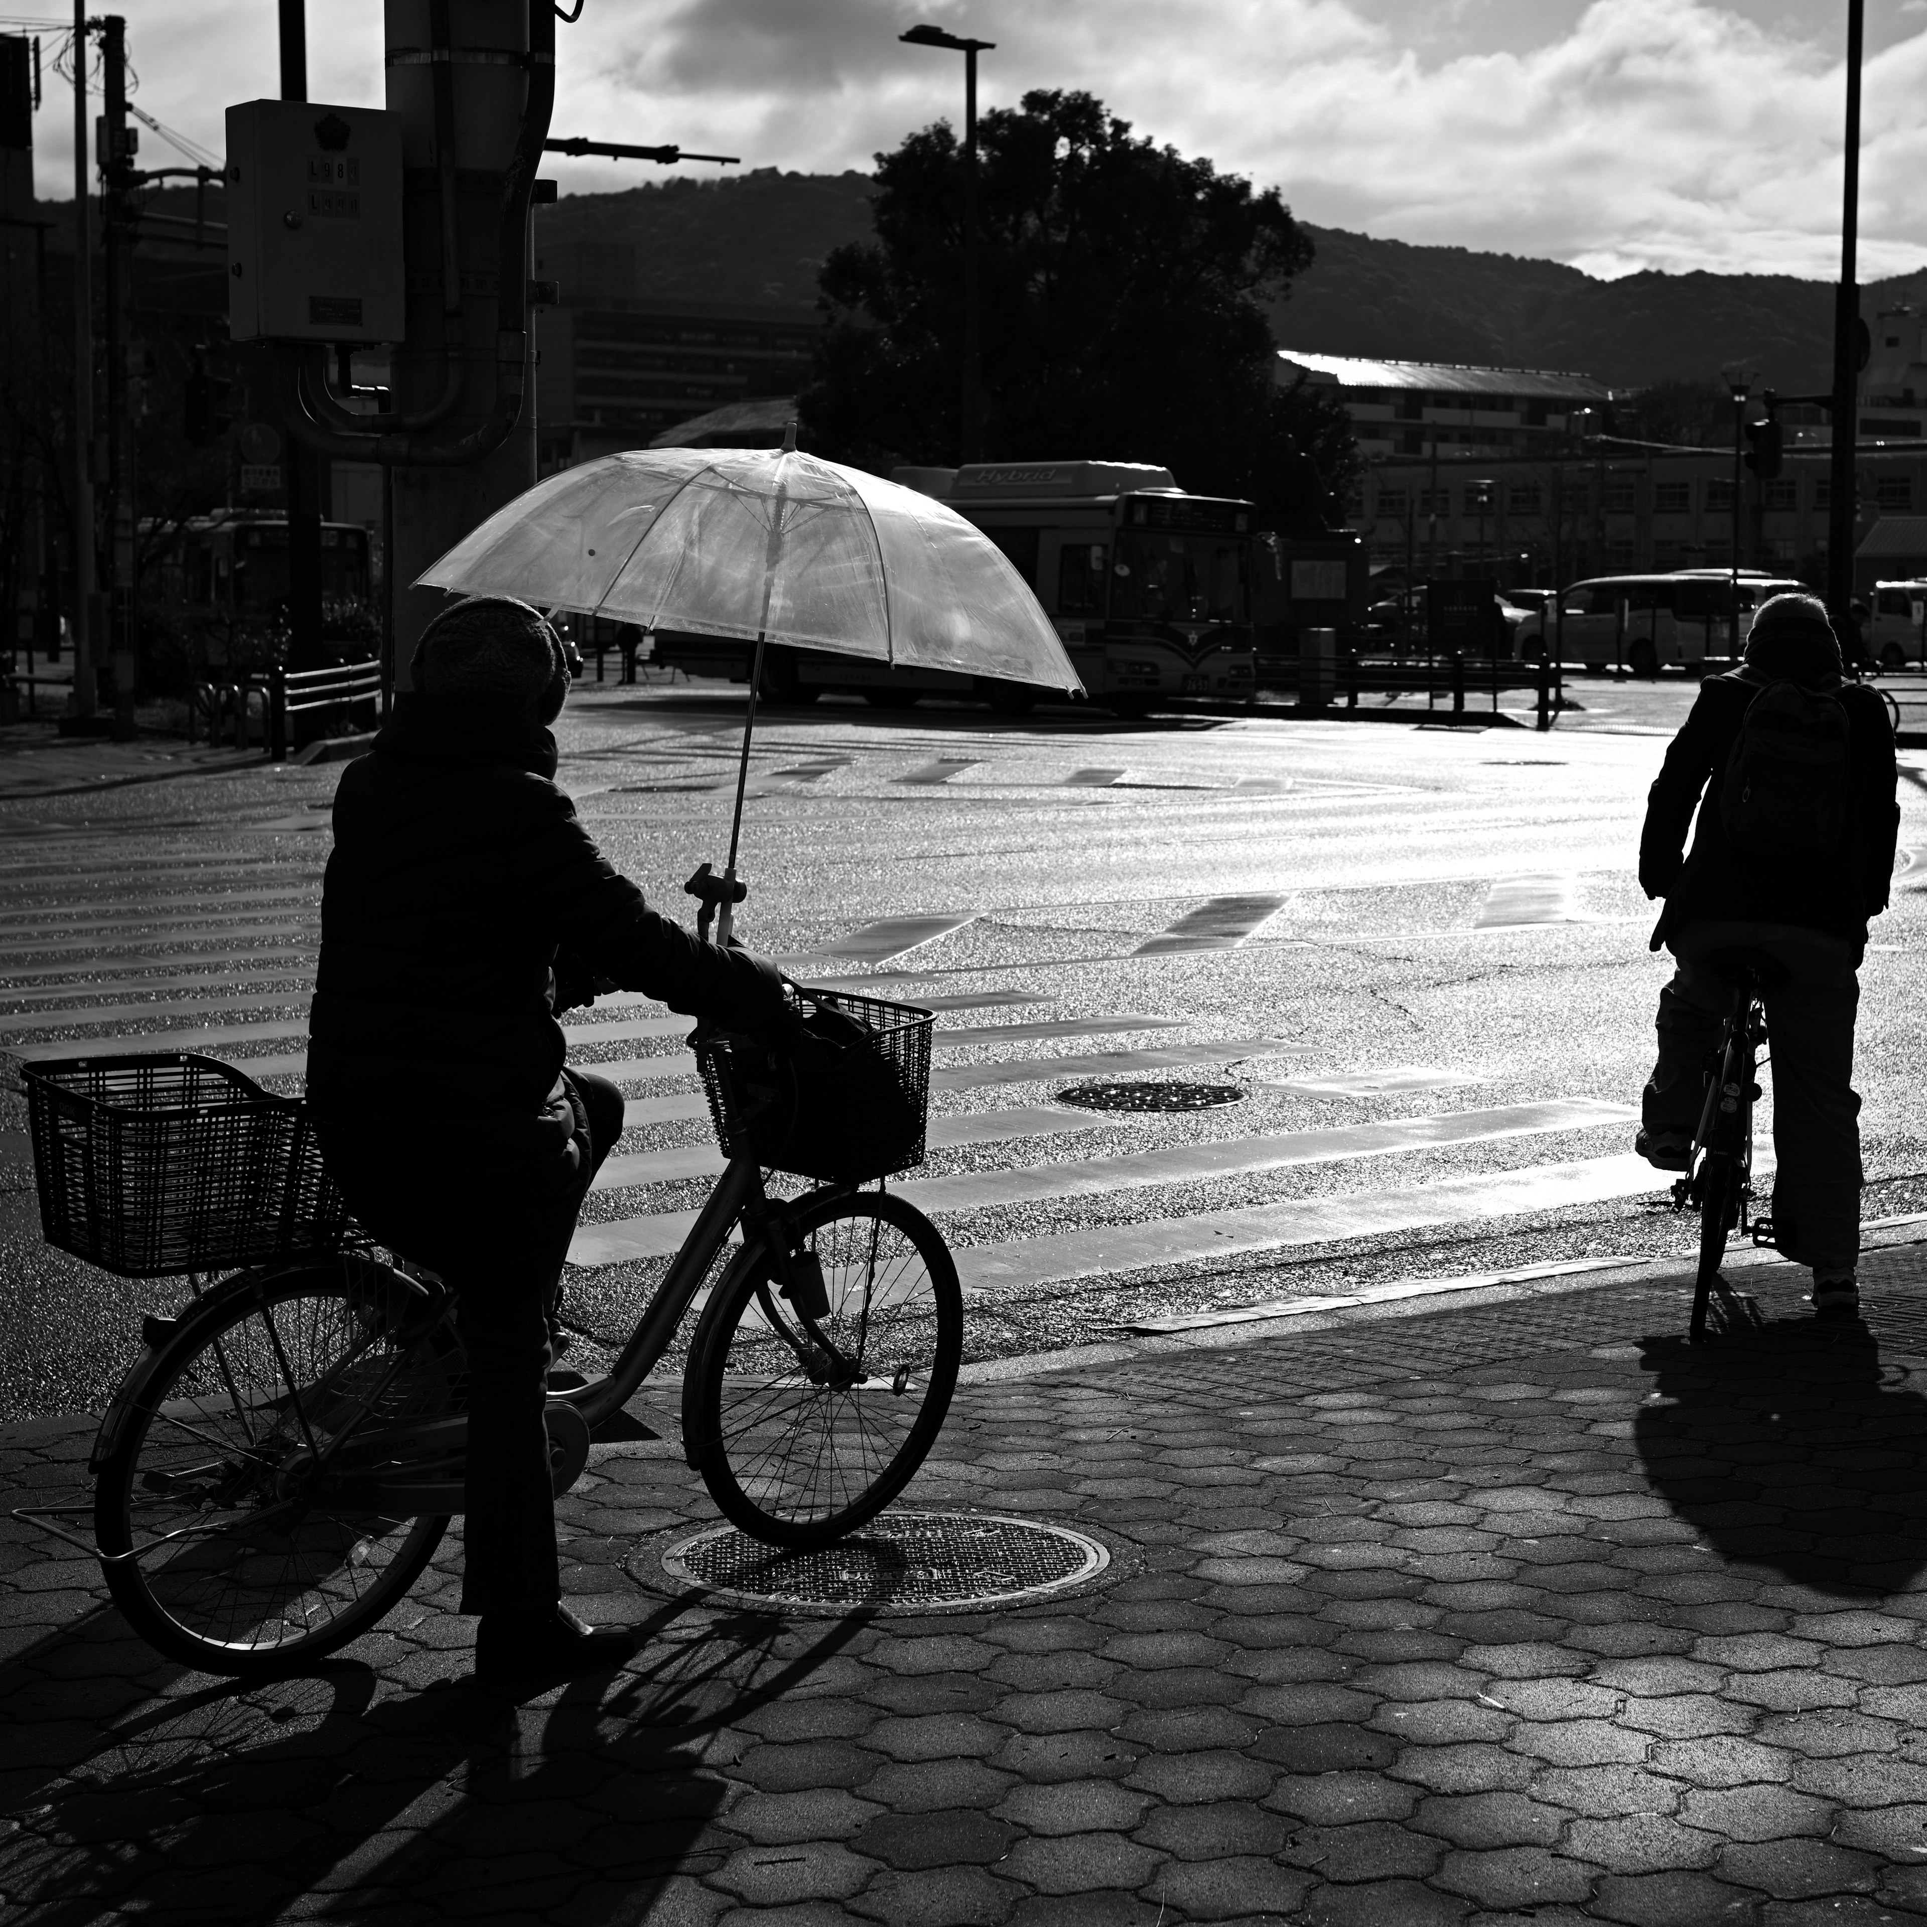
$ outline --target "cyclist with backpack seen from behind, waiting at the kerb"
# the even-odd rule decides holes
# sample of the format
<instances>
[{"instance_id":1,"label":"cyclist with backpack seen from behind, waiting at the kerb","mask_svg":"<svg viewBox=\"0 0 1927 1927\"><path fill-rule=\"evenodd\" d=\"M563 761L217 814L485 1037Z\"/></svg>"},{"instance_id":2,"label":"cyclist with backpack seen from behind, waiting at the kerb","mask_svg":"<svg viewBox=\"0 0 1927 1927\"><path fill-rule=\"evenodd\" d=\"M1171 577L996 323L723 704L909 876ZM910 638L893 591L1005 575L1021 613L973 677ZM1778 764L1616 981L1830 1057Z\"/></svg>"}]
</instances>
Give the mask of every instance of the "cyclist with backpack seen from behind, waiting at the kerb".
<instances>
[{"instance_id":1,"label":"cyclist with backpack seen from behind, waiting at the kerb","mask_svg":"<svg viewBox=\"0 0 1927 1927\"><path fill-rule=\"evenodd\" d=\"M1665 898L1651 948L1665 944L1678 969L1659 992L1638 1150L1659 1170L1690 1168L1705 1064L1732 1000L1711 960L1763 954L1777 979L1765 990L1775 1239L1811 1268L1813 1308L1831 1314L1860 1308L1856 973L1894 871L1894 784L1887 705L1844 680L1827 607L1775 595L1744 663L1700 686L1640 836L1640 884Z\"/></svg>"}]
</instances>

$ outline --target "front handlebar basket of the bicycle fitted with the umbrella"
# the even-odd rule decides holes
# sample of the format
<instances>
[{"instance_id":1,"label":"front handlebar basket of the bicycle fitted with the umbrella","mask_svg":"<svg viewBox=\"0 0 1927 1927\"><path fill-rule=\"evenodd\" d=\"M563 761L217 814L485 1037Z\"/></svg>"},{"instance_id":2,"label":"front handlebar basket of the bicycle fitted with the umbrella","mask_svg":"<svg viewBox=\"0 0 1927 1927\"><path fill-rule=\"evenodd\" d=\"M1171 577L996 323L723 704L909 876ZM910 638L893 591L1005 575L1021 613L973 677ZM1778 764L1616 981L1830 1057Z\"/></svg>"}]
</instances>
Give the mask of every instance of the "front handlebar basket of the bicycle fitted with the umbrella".
<instances>
[{"instance_id":1,"label":"front handlebar basket of the bicycle fitted with the umbrella","mask_svg":"<svg viewBox=\"0 0 1927 1927\"><path fill-rule=\"evenodd\" d=\"M921 1164L931 1014L848 990L802 994L832 1016L805 1017L798 1037L690 1041L725 1156L831 1183Z\"/></svg>"}]
</instances>

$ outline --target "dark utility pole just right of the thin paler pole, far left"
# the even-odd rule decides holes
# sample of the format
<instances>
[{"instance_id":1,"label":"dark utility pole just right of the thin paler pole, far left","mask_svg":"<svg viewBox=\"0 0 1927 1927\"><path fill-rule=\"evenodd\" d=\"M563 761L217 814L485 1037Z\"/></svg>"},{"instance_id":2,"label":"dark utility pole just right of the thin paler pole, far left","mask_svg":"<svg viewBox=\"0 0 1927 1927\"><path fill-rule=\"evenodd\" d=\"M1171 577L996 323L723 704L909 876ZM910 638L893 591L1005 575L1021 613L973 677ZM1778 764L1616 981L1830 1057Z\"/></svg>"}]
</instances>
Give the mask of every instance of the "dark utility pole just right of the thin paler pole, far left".
<instances>
[{"instance_id":1,"label":"dark utility pole just right of the thin paler pole, far left","mask_svg":"<svg viewBox=\"0 0 1927 1927\"><path fill-rule=\"evenodd\" d=\"M139 676L135 611L133 410L127 360L133 353L133 187L135 133L127 125L127 21L100 21L100 251L102 337L106 347L108 445L108 649L114 661L114 734L133 736Z\"/></svg>"}]
</instances>

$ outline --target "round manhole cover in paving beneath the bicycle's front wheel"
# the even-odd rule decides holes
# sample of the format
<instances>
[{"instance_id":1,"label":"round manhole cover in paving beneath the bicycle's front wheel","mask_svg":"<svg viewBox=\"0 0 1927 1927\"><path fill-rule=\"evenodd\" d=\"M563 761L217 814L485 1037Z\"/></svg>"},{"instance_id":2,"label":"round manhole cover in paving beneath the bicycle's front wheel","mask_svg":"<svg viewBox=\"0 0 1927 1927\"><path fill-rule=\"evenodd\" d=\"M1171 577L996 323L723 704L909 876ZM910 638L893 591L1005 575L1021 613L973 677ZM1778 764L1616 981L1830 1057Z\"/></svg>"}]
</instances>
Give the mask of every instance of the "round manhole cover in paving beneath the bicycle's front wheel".
<instances>
[{"instance_id":1,"label":"round manhole cover in paving beneath the bicycle's front wheel","mask_svg":"<svg viewBox=\"0 0 1927 1927\"><path fill-rule=\"evenodd\" d=\"M1068 1526L994 1513L884 1513L813 1553L713 1526L663 1553L663 1576L786 1613L965 1613L1029 1605L1095 1580L1110 1549Z\"/></svg>"}]
</instances>

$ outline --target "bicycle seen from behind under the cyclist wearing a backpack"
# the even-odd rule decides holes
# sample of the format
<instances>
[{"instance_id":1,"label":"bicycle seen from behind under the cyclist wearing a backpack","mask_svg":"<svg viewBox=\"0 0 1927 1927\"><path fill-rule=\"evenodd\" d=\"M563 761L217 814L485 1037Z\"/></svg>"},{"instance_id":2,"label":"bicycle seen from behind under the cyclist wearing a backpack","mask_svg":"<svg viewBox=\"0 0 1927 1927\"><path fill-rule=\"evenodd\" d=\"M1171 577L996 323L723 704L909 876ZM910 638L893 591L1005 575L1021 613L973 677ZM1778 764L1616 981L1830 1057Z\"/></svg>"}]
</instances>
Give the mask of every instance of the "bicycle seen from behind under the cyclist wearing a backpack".
<instances>
[{"instance_id":1,"label":"bicycle seen from behind under the cyclist wearing a backpack","mask_svg":"<svg viewBox=\"0 0 1927 1927\"><path fill-rule=\"evenodd\" d=\"M1700 1212L1700 1268L1694 1278L1688 1337L1705 1343L1713 1293L1730 1297L1721 1276L1727 1241L1738 1227L1755 1245L1773 1243L1773 1220L1754 1218L1754 1104L1759 1100L1761 1046L1767 1043L1765 992L1784 979L1773 958L1755 950L1719 950L1705 967L1732 985L1719 1048L1705 1069L1705 1102L1694 1129L1688 1174L1673 1185L1673 1208Z\"/></svg>"}]
</instances>

